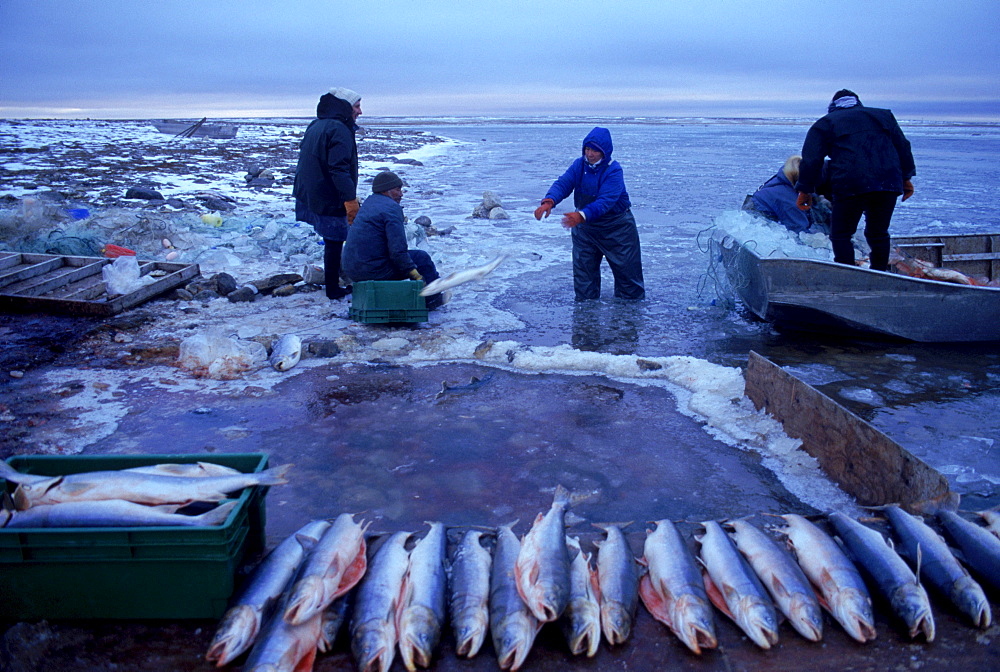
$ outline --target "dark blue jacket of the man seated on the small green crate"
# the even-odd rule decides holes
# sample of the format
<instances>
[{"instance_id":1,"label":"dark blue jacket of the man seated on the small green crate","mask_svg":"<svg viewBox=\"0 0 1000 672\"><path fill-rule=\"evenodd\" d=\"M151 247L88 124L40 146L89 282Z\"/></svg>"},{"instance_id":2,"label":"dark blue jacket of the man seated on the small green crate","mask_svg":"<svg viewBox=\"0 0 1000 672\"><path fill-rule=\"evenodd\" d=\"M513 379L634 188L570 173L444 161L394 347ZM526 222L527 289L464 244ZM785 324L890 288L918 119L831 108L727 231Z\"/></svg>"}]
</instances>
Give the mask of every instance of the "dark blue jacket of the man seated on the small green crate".
<instances>
[{"instance_id":1,"label":"dark blue jacket of the man seated on the small green crate","mask_svg":"<svg viewBox=\"0 0 1000 672\"><path fill-rule=\"evenodd\" d=\"M416 268L406 247L403 208L385 194L361 204L347 231L341 268L354 282L405 278Z\"/></svg>"}]
</instances>

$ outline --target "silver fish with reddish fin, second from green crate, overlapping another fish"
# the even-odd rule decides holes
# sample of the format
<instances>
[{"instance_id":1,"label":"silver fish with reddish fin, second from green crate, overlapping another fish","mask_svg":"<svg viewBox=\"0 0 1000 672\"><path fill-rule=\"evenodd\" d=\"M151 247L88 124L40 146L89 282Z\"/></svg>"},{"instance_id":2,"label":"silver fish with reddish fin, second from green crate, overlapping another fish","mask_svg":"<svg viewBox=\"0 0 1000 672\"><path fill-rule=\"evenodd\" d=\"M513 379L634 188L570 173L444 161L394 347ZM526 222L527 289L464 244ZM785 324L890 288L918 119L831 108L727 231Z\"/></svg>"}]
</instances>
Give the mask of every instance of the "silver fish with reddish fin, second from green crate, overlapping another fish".
<instances>
[{"instance_id":1,"label":"silver fish with reddish fin, second from green crate, overlapping another fish","mask_svg":"<svg viewBox=\"0 0 1000 672\"><path fill-rule=\"evenodd\" d=\"M354 522L349 513L337 516L306 557L291 588L284 619L292 625L321 613L354 587L368 567L365 547L367 523Z\"/></svg>"}]
</instances>

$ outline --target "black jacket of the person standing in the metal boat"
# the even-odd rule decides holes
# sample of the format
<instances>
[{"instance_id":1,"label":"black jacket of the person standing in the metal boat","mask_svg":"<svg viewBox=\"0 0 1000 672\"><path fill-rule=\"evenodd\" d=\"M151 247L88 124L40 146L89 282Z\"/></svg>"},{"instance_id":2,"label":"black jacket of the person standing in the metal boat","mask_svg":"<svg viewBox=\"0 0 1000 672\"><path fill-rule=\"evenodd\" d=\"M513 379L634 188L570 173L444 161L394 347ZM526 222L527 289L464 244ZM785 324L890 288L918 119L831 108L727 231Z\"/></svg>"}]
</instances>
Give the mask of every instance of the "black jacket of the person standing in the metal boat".
<instances>
[{"instance_id":1,"label":"black jacket of the person standing in the metal boat","mask_svg":"<svg viewBox=\"0 0 1000 672\"><path fill-rule=\"evenodd\" d=\"M802 145L795 190L816 193L830 157L833 198L873 191L903 193L916 175L910 142L889 110L856 105L835 109L812 125Z\"/></svg>"}]
</instances>

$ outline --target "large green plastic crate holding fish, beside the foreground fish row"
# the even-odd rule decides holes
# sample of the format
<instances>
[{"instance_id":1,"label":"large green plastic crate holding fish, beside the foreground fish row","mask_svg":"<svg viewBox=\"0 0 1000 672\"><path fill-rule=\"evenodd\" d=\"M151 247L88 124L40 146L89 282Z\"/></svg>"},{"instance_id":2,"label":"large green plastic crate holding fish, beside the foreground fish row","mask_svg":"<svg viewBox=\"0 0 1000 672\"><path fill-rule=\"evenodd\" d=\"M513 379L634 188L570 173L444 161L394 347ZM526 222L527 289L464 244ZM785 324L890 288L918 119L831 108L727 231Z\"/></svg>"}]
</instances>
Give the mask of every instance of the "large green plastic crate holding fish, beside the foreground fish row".
<instances>
[{"instance_id":1,"label":"large green plastic crate holding fish, beside the foreground fish row","mask_svg":"<svg viewBox=\"0 0 1000 672\"><path fill-rule=\"evenodd\" d=\"M229 477L240 479L252 475L256 479L258 472L267 467L267 462L267 455L261 453L237 453L17 456L10 458L7 465L20 475L36 479L135 470L154 465L187 465L167 468L176 471L198 469L222 478L215 472L225 470L211 466L221 465L240 472ZM8 479L15 478L8 470L5 472ZM20 475L16 477L23 478ZM156 472L156 475L163 474ZM207 483L207 478L200 480ZM62 479L60 484L70 483L70 480ZM33 483L37 487L31 489L31 493L44 493L39 495L37 502L44 503L44 497L58 491L56 487L44 490L55 480L33 479ZM0 478L0 492L20 498L22 505L25 501L24 490L18 493L17 484L11 480ZM230 499L220 507L211 504L189 506L189 511L195 509L191 515L204 509L206 516L214 517L212 523L206 525L179 525L176 522L161 525L158 519L153 524L144 521L118 525L114 517L110 520L86 517L97 515L93 510L103 511L92 508L90 512L81 512L82 519L67 526L12 527L19 514L32 512L32 508L0 513L0 523L4 524L0 527L0 621L218 618L226 610L234 588L234 576L244 557L264 548L266 492L266 486L241 487L232 491L228 495ZM111 501L115 505L114 500ZM219 510L222 506L225 508ZM36 508L36 511L56 508ZM151 515L154 514L155 511ZM206 518L204 522L209 520ZM34 518L24 518L22 522L38 525ZM75 526L81 522L87 526ZM62 525L63 521L53 519L49 523Z\"/></svg>"}]
</instances>

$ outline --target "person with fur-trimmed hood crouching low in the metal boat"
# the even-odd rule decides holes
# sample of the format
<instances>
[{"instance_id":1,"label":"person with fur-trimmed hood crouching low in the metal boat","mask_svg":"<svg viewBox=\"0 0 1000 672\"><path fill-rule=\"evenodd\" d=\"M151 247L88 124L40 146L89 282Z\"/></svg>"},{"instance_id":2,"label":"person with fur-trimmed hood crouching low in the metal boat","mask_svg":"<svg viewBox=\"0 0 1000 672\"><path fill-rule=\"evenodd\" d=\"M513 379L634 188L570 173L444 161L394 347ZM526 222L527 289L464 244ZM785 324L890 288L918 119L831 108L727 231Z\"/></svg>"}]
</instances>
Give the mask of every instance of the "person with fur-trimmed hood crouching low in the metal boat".
<instances>
[{"instance_id":1,"label":"person with fur-trimmed hood crouching low in the metal boat","mask_svg":"<svg viewBox=\"0 0 1000 672\"><path fill-rule=\"evenodd\" d=\"M830 206L825 198L818 193L813 194L812 207L808 212L796 206L798 193L795 191L795 183L799 179L801 161L802 157L798 154L788 157L781 170L757 187L752 196L747 196L742 209L778 222L794 233L829 233ZM817 189L823 191L821 187Z\"/></svg>"}]
</instances>

